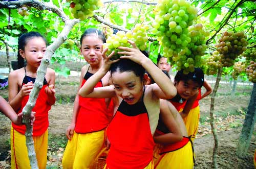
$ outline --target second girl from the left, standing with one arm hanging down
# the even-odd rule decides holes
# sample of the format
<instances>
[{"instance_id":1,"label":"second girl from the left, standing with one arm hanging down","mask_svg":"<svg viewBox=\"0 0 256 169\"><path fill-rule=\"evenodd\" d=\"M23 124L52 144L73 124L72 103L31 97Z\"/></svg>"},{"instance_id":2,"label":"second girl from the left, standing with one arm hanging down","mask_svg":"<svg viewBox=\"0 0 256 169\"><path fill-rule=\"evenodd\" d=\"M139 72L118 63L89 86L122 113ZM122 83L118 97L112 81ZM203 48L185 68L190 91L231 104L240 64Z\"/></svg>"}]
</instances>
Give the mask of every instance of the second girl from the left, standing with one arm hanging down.
<instances>
[{"instance_id":1,"label":"second girl from the left, standing with one arm hanging down","mask_svg":"<svg viewBox=\"0 0 256 169\"><path fill-rule=\"evenodd\" d=\"M89 63L81 69L80 86L93 76L102 66L101 46L105 37L97 29L87 29L81 36L81 55ZM109 85L109 75L98 80L95 87ZM105 128L110 122L107 110L109 99L82 98L76 95L73 116L66 135L69 139L62 158L62 166L67 168L90 168L104 146ZM111 107L111 105L109 106Z\"/></svg>"}]
</instances>

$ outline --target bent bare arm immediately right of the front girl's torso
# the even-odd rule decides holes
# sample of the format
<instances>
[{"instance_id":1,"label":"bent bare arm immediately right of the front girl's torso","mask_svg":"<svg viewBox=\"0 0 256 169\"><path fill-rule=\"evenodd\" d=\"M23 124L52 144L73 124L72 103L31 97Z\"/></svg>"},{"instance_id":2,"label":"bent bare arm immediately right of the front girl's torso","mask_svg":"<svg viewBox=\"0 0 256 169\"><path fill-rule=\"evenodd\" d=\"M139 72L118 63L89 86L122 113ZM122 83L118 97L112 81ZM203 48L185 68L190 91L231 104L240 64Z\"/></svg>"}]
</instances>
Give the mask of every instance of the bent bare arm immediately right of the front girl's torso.
<instances>
[{"instance_id":1,"label":"bent bare arm immediately right of the front girl's torso","mask_svg":"<svg viewBox=\"0 0 256 169\"><path fill-rule=\"evenodd\" d=\"M174 119L172 112L170 112L166 100L160 100L160 116L170 133L154 136L155 142L165 144L181 141L183 136L181 134L179 125Z\"/></svg>"}]
</instances>

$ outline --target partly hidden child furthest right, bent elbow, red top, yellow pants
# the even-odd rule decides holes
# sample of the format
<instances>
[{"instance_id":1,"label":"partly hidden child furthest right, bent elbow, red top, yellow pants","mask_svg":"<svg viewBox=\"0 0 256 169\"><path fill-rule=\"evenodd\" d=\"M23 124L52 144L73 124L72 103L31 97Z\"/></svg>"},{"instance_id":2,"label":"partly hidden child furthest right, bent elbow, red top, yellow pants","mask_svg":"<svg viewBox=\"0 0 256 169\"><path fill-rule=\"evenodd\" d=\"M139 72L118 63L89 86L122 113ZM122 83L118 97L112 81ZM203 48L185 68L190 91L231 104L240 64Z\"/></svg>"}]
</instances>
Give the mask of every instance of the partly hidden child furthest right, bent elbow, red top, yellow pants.
<instances>
[{"instance_id":1,"label":"partly hidden child furthest right, bent elbow, red top, yellow pants","mask_svg":"<svg viewBox=\"0 0 256 169\"><path fill-rule=\"evenodd\" d=\"M201 87L199 88L196 101L191 107L191 110L189 111L188 115L183 119L187 128L188 135L194 136L194 137L191 137L192 141L194 141L197 134L197 130L198 130L198 124L199 124L199 118L200 118L199 100L205 98L212 91L210 85L206 81L204 81L203 86L206 89L206 91L204 92L203 95L201 95Z\"/></svg>"}]
</instances>

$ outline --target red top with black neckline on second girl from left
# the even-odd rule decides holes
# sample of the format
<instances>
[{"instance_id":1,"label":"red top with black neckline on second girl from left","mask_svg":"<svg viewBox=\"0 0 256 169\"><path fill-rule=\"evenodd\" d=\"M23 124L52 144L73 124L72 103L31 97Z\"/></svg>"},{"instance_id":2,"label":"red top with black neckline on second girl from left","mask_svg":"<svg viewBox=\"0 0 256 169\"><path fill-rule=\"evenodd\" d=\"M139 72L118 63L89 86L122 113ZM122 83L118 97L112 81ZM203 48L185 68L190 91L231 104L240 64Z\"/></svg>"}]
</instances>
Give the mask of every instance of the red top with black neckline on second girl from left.
<instances>
[{"instance_id":1,"label":"red top with black neckline on second girl from left","mask_svg":"<svg viewBox=\"0 0 256 169\"><path fill-rule=\"evenodd\" d=\"M82 85L93 74L87 71ZM82 86L81 85L81 86ZM99 81L95 87L102 87L102 82ZM100 131L108 126L110 120L107 114L105 99L82 98L79 96L79 109L76 117L76 133L90 133Z\"/></svg>"}]
</instances>

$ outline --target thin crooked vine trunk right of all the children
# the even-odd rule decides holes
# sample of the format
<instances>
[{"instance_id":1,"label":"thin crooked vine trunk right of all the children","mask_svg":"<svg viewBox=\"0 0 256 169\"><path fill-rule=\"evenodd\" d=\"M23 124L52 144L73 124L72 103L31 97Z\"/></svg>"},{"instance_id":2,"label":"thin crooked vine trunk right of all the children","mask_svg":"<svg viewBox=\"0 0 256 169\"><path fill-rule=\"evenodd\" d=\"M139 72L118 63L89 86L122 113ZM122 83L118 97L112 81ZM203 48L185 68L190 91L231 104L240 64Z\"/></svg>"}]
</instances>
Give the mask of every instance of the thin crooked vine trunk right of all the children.
<instances>
[{"instance_id":1,"label":"thin crooked vine trunk right of all the children","mask_svg":"<svg viewBox=\"0 0 256 169\"><path fill-rule=\"evenodd\" d=\"M222 68L218 70L218 75L216 79L216 83L214 86L214 91L211 95L211 102L210 102L210 126L211 126L211 132L214 135L214 153L212 154L212 163L214 164L214 168L218 169L217 165L217 151L218 151L218 138L216 134L216 129L214 127L214 102L215 102L215 96L221 81L221 74L222 74Z\"/></svg>"}]
</instances>

